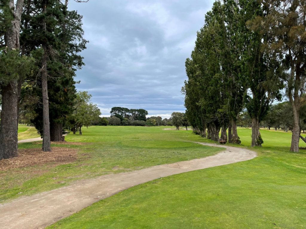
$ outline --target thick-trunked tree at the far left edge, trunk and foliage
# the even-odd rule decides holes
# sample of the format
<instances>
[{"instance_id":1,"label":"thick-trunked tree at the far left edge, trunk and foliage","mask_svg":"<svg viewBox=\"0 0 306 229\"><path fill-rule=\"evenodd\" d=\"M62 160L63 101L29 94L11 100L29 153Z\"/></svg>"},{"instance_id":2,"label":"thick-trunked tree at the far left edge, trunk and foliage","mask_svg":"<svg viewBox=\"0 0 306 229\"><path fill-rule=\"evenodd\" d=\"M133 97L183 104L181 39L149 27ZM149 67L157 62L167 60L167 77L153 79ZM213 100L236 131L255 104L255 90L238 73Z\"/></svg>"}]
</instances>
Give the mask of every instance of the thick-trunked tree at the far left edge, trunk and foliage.
<instances>
[{"instance_id":1,"label":"thick-trunked tree at the far left edge, trunk and foliage","mask_svg":"<svg viewBox=\"0 0 306 229\"><path fill-rule=\"evenodd\" d=\"M19 59L19 36L21 13L24 0L17 0L16 7L14 0L0 2L1 15L1 36L4 37L5 51L1 51L1 62L8 60L6 53L12 57L10 64L15 65L15 72L10 71L1 74L6 79L1 83L2 112L0 126L0 159L10 158L18 155L17 130L18 130L18 110L17 110L17 81L18 73L16 69L23 65L21 61L16 66L16 59ZM17 62L17 63L18 63ZM3 63L3 62L2 62ZM3 70L3 68L2 68ZM25 70L25 69L23 69ZM19 70L17 70L18 72Z\"/></svg>"}]
</instances>

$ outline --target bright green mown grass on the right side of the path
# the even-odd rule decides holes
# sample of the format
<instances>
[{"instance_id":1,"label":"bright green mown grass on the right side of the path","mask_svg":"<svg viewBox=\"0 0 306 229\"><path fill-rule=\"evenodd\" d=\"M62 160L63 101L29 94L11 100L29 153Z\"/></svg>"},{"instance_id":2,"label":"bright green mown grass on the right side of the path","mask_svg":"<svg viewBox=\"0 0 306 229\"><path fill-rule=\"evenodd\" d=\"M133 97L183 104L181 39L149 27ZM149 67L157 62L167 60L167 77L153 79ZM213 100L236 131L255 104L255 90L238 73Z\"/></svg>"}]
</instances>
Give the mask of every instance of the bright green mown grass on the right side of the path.
<instances>
[{"instance_id":1,"label":"bright green mown grass on the right side of the path","mask_svg":"<svg viewBox=\"0 0 306 229\"><path fill-rule=\"evenodd\" d=\"M251 129L238 133L248 146ZM261 134L258 158L154 180L48 228L306 228L306 151L289 152L290 133Z\"/></svg>"}]
</instances>

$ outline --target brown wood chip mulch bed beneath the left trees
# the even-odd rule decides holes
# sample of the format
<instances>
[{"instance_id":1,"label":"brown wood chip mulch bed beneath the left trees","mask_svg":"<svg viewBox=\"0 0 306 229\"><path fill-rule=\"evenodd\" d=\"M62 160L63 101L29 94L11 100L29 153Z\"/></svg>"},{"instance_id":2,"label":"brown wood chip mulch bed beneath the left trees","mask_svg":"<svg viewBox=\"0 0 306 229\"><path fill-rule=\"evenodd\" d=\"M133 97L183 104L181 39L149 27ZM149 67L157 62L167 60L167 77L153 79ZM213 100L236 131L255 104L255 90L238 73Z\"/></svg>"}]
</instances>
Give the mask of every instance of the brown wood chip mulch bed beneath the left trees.
<instances>
[{"instance_id":1,"label":"brown wood chip mulch bed beneath the left trees","mask_svg":"<svg viewBox=\"0 0 306 229\"><path fill-rule=\"evenodd\" d=\"M19 156L0 160L0 171L22 168L30 165L42 165L48 162L65 164L76 160L77 150L73 148L51 147L51 152L41 148L18 150Z\"/></svg>"}]
</instances>

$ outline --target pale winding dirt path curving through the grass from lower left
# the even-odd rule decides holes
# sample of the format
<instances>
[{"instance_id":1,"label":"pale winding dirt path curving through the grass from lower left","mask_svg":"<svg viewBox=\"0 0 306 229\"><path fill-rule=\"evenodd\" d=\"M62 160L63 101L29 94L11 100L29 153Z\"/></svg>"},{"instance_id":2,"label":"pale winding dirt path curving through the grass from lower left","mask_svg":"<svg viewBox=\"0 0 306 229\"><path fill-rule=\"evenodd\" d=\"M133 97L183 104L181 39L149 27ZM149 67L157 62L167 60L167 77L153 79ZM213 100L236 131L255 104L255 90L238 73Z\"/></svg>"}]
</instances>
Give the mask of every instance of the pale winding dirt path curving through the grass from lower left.
<instances>
[{"instance_id":1,"label":"pale winding dirt path curving through the grass from lower left","mask_svg":"<svg viewBox=\"0 0 306 229\"><path fill-rule=\"evenodd\" d=\"M157 165L137 171L110 174L82 180L52 191L22 197L0 205L0 225L5 228L44 228L81 209L129 187L160 177L198 169L247 161L256 157L254 151L217 144L226 150L207 158Z\"/></svg>"}]
</instances>

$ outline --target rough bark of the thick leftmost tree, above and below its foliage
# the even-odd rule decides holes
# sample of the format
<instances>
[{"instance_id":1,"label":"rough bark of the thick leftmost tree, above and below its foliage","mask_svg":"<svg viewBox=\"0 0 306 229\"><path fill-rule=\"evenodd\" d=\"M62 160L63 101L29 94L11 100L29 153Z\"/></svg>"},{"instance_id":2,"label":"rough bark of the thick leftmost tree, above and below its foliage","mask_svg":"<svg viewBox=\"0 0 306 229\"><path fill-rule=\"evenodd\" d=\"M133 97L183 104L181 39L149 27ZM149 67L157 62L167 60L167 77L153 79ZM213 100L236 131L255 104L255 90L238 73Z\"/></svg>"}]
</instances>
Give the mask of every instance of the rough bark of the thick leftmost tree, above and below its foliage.
<instances>
[{"instance_id":1,"label":"rough bark of the thick leftmost tree, above and below its foliage","mask_svg":"<svg viewBox=\"0 0 306 229\"><path fill-rule=\"evenodd\" d=\"M9 0L8 6L13 14L10 26L6 27L4 34L7 49L19 50L19 35L21 24L21 13L24 0L17 0L16 9L14 0ZM0 160L18 156L18 110L17 110L17 80L12 79L6 85L1 85L2 90L2 112L0 127Z\"/></svg>"}]
</instances>

